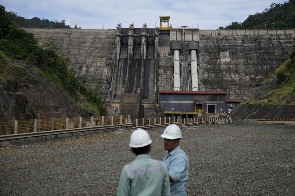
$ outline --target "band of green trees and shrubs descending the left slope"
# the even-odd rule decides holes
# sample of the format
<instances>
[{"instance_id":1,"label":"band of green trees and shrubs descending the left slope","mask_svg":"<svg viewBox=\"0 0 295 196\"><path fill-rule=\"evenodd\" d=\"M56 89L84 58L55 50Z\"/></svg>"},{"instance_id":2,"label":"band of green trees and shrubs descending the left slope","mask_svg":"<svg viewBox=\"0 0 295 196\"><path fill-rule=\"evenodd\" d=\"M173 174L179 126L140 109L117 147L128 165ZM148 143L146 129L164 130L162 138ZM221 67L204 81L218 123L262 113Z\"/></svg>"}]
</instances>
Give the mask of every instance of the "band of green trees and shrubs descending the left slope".
<instances>
[{"instance_id":1,"label":"band of green trees and shrubs descending the left slope","mask_svg":"<svg viewBox=\"0 0 295 196\"><path fill-rule=\"evenodd\" d=\"M45 47L42 49L38 46L32 33L18 28L11 17L6 15L5 7L0 6L0 54L25 60L42 76L57 84L69 100L99 115L103 111L102 98L98 96L100 86L90 91L85 82L79 83L74 70L67 69L69 58L57 53L57 42L53 38L48 38Z\"/></svg>"}]
</instances>

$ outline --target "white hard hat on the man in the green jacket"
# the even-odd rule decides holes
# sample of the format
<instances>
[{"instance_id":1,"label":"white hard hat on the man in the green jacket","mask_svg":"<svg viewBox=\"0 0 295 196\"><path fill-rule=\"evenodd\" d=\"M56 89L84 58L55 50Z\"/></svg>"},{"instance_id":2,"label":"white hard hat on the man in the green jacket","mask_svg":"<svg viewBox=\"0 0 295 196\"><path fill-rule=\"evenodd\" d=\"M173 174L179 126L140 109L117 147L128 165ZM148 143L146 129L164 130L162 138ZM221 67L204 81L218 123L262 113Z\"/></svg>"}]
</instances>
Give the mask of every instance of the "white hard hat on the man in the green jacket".
<instances>
[{"instance_id":1,"label":"white hard hat on the man in the green jacket","mask_svg":"<svg viewBox=\"0 0 295 196\"><path fill-rule=\"evenodd\" d=\"M136 129L130 136L129 146L131 148L140 148L151 144L150 135L146 130Z\"/></svg>"}]
</instances>

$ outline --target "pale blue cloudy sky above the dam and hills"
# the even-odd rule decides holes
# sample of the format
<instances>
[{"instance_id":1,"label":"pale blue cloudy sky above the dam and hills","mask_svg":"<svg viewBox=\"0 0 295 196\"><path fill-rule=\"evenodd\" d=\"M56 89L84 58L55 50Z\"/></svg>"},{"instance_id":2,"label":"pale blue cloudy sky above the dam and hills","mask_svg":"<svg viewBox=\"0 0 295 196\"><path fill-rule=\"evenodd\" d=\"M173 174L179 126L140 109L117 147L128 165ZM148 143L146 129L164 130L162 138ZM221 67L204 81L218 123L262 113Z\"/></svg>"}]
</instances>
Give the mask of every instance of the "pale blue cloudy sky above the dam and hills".
<instances>
[{"instance_id":1,"label":"pale blue cloudy sky above the dam and hills","mask_svg":"<svg viewBox=\"0 0 295 196\"><path fill-rule=\"evenodd\" d=\"M26 18L38 17L50 21L66 21L82 29L115 29L134 23L141 28L159 26L159 16L169 15L174 28L182 25L200 29L226 27L231 22L244 21L249 14L262 12L271 3L288 0L1 0L6 11ZM198 25L198 26L197 26Z\"/></svg>"}]
</instances>

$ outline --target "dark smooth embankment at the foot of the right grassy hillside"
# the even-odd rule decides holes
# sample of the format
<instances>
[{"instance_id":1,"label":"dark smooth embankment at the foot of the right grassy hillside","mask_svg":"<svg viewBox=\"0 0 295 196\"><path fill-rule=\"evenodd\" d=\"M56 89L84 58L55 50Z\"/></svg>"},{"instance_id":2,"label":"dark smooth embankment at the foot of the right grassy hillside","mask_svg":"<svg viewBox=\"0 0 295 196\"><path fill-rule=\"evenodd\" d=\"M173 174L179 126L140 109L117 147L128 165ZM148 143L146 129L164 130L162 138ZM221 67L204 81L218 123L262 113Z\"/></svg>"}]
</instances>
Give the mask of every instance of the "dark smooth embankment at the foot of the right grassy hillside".
<instances>
[{"instance_id":1,"label":"dark smooth embankment at the foot of the right grassy hillside","mask_svg":"<svg viewBox=\"0 0 295 196\"><path fill-rule=\"evenodd\" d=\"M230 117L232 119L293 119L295 106L241 104L230 113Z\"/></svg>"}]
</instances>

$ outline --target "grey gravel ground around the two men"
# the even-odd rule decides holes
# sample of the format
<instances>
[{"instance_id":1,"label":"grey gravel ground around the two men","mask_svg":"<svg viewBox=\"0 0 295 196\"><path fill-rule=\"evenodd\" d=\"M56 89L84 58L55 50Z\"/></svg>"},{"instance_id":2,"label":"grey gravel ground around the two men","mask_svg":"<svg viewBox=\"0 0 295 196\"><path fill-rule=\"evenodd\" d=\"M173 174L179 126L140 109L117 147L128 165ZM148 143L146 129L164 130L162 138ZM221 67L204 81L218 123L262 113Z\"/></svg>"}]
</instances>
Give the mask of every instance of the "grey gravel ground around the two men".
<instances>
[{"instance_id":1,"label":"grey gravel ground around the two men","mask_svg":"<svg viewBox=\"0 0 295 196\"><path fill-rule=\"evenodd\" d=\"M295 195L295 126L183 127L190 160L187 195ZM164 157L163 128L148 130L151 157ZM92 134L0 149L0 195L116 195L134 159L131 131Z\"/></svg>"}]
</instances>

